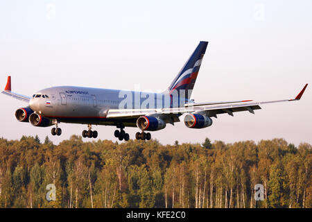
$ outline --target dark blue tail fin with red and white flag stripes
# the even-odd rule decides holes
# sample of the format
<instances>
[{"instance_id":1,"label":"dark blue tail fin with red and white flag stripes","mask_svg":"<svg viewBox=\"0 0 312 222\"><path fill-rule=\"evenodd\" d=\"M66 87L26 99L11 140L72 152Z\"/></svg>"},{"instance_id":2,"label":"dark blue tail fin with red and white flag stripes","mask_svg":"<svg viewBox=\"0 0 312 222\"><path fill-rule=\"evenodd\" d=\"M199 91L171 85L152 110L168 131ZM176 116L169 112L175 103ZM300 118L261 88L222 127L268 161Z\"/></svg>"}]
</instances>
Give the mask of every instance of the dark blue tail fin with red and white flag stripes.
<instances>
[{"instance_id":1,"label":"dark blue tail fin with red and white flag stripes","mask_svg":"<svg viewBox=\"0 0 312 222\"><path fill-rule=\"evenodd\" d=\"M180 89L184 89L187 94L189 89L193 89L207 45L208 42L200 42L198 44L189 60L187 60L184 67L182 67L179 74L177 74L168 87L170 93L173 92L173 90L179 91ZM186 95L187 98L189 98L189 96L191 95Z\"/></svg>"}]
</instances>

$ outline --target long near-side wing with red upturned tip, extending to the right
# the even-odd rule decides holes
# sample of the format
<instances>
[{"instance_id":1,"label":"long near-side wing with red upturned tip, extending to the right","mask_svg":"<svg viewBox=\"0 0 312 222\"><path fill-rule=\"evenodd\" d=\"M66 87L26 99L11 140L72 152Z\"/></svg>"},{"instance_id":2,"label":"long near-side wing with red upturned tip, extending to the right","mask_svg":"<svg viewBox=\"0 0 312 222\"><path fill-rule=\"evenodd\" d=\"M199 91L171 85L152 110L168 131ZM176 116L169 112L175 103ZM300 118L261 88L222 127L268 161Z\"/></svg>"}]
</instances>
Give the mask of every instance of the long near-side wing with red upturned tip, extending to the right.
<instances>
[{"instance_id":1,"label":"long near-side wing with red upturned tip, extending to the right","mask_svg":"<svg viewBox=\"0 0 312 222\"><path fill-rule=\"evenodd\" d=\"M212 103L192 103L188 104L184 108L160 108L160 109L124 109L124 110L108 110L106 118L130 118L130 117L141 117L145 115L155 115L155 114L177 114L181 115L184 113L201 113L205 112L209 117L216 117L217 114L227 113L234 116L233 112L248 111L254 114L254 110L261 109L260 105L266 103L281 103L288 101L299 101L304 93L304 90L308 84L304 85L303 89L295 97L295 99L283 99L277 101L263 101L263 102L253 102L248 101L228 101L228 102L212 102Z\"/></svg>"}]
</instances>

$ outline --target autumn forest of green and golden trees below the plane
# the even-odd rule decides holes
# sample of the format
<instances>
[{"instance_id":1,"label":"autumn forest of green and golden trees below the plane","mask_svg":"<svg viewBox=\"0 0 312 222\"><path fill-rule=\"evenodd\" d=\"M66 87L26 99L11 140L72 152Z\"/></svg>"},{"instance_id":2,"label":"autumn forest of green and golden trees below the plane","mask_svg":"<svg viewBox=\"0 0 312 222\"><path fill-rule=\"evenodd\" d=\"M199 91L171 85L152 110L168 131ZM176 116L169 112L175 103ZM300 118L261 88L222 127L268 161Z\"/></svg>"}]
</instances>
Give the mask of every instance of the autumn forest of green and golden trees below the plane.
<instances>
[{"instance_id":1,"label":"autumn forest of green and golden trees below the plane","mask_svg":"<svg viewBox=\"0 0 312 222\"><path fill-rule=\"evenodd\" d=\"M0 207L312 207L311 145L0 139ZM54 184L56 200L46 200ZM254 185L264 200L254 200Z\"/></svg>"}]
</instances>

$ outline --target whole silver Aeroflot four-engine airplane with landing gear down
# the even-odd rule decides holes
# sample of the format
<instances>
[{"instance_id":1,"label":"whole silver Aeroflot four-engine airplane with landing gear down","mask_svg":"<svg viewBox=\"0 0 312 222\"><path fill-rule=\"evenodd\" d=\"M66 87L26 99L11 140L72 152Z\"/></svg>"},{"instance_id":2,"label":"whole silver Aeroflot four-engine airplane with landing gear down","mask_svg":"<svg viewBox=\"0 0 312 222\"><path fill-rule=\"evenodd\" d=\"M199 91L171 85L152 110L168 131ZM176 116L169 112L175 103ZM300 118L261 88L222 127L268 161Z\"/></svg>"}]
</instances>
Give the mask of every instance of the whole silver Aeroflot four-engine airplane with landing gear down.
<instances>
[{"instance_id":1,"label":"whole silver Aeroflot four-engine airplane with landing gear down","mask_svg":"<svg viewBox=\"0 0 312 222\"><path fill-rule=\"evenodd\" d=\"M168 89L161 93L57 86L42 89L29 97L11 91L11 76L8 76L2 93L28 103L26 107L16 110L18 121L30 122L36 127L55 126L51 129L52 135L62 134L59 123L87 124L88 130L83 130L82 135L88 138L98 137L92 125L116 126L114 136L120 141L130 139L125 127L139 128L141 131L135 134L135 138L149 140L151 135L146 131L162 130L166 124L174 125L183 117L188 128L207 128L213 123L211 118L217 118L219 114L234 116L234 112L243 111L254 114L254 110L261 109L260 105L299 101L304 94L308 84L295 99L196 103L191 99L191 93L207 45L208 42L203 41L198 44Z\"/></svg>"}]
</instances>

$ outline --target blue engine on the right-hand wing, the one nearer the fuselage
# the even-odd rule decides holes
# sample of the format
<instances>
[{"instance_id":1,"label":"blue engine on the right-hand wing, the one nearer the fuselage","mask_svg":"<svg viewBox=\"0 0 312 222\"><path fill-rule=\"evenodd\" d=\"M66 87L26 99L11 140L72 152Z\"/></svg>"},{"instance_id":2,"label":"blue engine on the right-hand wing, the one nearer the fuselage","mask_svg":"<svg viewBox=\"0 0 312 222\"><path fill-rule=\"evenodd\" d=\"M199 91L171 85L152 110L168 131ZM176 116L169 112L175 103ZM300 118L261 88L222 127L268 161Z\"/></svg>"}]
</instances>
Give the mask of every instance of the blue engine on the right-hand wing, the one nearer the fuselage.
<instances>
[{"instance_id":1,"label":"blue engine on the right-hand wing, the one nearer the fuselage","mask_svg":"<svg viewBox=\"0 0 312 222\"><path fill-rule=\"evenodd\" d=\"M137 119L137 127L141 130L156 131L165 128L166 123L156 117L144 116Z\"/></svg>"}]
</instances>

